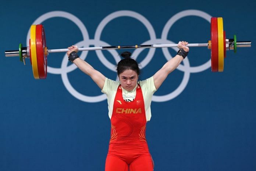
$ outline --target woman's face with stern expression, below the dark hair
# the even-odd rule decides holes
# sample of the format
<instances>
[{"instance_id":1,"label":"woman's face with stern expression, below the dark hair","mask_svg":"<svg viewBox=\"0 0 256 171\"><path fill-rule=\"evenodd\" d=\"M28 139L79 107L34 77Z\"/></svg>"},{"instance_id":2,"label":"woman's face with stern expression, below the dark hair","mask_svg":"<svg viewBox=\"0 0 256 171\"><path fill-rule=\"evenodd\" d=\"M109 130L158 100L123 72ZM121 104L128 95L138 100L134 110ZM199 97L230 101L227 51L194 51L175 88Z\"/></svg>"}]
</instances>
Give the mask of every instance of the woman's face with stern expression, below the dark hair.
<instances>
[{"instance_id":1,"label":"woman's face with stern expression, below the dark hair","mask_svg":"<svg viewBox=\"0 0 256 171\"><path fill-rule=\"evenodd\" d=\"M137 85L138 74L134 70L125 70L119 74L119 80L122 88L127 91L131 91Z\"/></svg>"}]
</instances>

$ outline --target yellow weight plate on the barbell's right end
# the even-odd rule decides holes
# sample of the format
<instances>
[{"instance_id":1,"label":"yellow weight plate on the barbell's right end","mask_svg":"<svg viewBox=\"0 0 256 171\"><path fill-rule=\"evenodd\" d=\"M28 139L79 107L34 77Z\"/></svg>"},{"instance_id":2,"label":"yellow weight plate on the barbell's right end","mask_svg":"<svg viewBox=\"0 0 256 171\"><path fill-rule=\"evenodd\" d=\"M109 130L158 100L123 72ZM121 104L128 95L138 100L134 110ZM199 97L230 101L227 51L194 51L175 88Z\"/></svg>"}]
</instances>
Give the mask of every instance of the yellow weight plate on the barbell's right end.
<instances>
[{"instance_id":1,"label":"yellow weight plate on the barbell's right end","mask_svg":"<svg viewBox=\"0 0 256 171\"><path fill-rule=\"evenodd\" d=\"M218 17L217 19L218 19L218 72L223 72L223 69L224 69L223 19L222 17Z\"/></svg>"}]
</instances>

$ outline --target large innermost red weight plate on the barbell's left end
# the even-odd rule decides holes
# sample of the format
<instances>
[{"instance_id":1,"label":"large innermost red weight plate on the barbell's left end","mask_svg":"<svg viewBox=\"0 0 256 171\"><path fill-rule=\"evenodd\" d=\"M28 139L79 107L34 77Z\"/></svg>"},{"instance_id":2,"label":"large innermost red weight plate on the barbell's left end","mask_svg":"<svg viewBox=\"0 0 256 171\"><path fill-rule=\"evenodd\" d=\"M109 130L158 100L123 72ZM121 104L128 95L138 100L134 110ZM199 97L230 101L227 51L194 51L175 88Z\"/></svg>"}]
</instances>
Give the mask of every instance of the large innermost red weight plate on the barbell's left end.
<instances>
[{"instance_id":1,"label":"large innermost red weight plate on the barbell's left end","mask_svg":"<svg viewBox=\"0 0 256 171\"><path fill-rule=\"evenodd\" d=\"M36 57L38 62L38 74L40 79L45 79L47 74L47 62L45 56L45 32L43 25L36 25Z\"/></svg>"}]
</instances>

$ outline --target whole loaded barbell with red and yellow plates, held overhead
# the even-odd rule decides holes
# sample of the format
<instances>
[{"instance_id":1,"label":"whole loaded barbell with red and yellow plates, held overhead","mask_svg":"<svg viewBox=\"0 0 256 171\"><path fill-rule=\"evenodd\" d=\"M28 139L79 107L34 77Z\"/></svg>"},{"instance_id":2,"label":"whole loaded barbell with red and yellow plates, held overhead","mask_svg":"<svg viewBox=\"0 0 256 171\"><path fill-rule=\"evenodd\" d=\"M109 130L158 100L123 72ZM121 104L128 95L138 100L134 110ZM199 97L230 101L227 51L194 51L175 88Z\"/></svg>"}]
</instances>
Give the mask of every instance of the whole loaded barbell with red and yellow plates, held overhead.
<instances>
[{"instance_id":1,"label":"whole loaded barbell with red and yellow plates, held overhead","mask_svg":"<svg viewBox=\"0 0 256 171\"><path fill-rule=\"evenodd\" d=\"M211 71L223 72L224 58L227 50L237 52L237 47L251 47L251 41L237 41L237 36L232 39L226 39L226 33L223 30L223 18L211 18L211 40L207 43L189 43L188 47L208 47L211 50ZM178 44L150 44L135 46L100 46L83 47L79 51L85 50L110 50L110 49L136 49L136 48L157 48L157 47L177 47ZM35 79L45 79L47 76L47 56L49 53L67 52L68 49L48 49L46 46L45 30L43 25L32 25L29 39L29 47L23 47L19 44L19 50L5 51L6 57L19 56L20 61L26 64L25 59L30 58L33 76Z\"/></svg>"}]
</instances>

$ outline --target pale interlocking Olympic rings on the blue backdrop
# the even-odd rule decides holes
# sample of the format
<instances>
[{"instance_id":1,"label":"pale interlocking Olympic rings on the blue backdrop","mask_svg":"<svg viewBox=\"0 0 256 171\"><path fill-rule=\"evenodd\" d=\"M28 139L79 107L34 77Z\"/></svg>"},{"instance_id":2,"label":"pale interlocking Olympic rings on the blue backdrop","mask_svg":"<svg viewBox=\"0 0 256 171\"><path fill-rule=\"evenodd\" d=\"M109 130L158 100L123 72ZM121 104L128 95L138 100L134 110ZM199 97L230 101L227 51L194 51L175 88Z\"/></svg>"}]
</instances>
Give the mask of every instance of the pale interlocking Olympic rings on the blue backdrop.
<instances>
[{"instance_id":1,"label":"pale interlocking Olympic rings on the blue backdrop","mask_svg":"<svg viewBox=\"0 0 256 171\"><path fill-rule=\"evenodd\" d=\"M81 22L80 19L78 19L77 17L75 17L74 15L64 12L64 11L52 11L46 14L41 15L38 19L36 19L33 24L41 24L43 21L49 19L49 18L53 18L53 17L63 17L63 18L67 18L70 19L72 22L74 22L78 28L80 29L82 36L83 36L83 41L78 42L77 45L78 47L89 47L89 45L94 45L94 46L111 46L110 44L107 44L106 42L103 42L102 40L100 40L100 36L101 33L104 29L104 27L107 25L107 23L109 23L111 20L118 18L118 17L132 17L135 19L138 19L143 25L145 25L145 27L147 28L148 32L149 32L149 36L150 36L150 40L147 40L146 42L143 42L142 44L172 44L174 42L167 40L167 35L168 35L168 31L170 30L171 26L178 20L181 19L183 17L186 16L198 16L201 18L206 19L207 21L210 22L211 16L203 11L199 11L199 10L185 10L185 11L181 11L177 14L175 14L173 17L171 17L166 25L164 26L162 35L161 35L161 39L157 39L156 38L156 33L154 32L153 26L150 24L150 22L143 17L141 14L136 13L134 11L116 11L114 13L111 13L110 15L108 15L107 17L105 17L99 24L99 26L96 29L95 32L95 38L94 39L89 39L89 34L88 31L85 27L85 25L83 25L83 23ZM27 45L29 44L29 35L30 35L30 30L28 31L28 35L27 35ZM29 45L28 45L29 46ZM178 50L177 47L172 47L174 50ZM132 56L136 59L139 54L143 51L144 49L135 49L134 53L132 54ZM149 49L149 52L147 54L147 56L145 57L145 59L141 62L141 69L144 68L153 58L154 56L154 52L156 49L151 48ZM170 60L172 58L171 54L169 53L167 48L162 48L163 54L166 57L167 60ZM109 50L109 52L111 53L111 55L114 57L114 60L116 63L118 63L118 61L120 61L120 57L118 56L118 53L116 50ZM83 51L81 53L80 58L85 60L86 56L88 54L88 51ZM99 58L99 60L102 62L103 65L105 65L108 69L110 69L111 71L114 71L115 66L110 63L106 57L104 57L102 51L96 51L96 54ZM189 81L189 76L190 73L196 73L196 72L202 72L204 70L207 70L208 68L210 68L211 66L211 61L207 61L205 64L199 65L197 67L190 67L189 64L189 60L188 58L185 58L183 60L184 65L179 65L178 66L178 70L183 71L184 72L184 76L182 79L181 84L178 86L177 89L175 89L173 92L167 94L167 95L163 95L163 96L153 96L152 101L157 101L157 102L164 102L164 101L168 101L171 99L174 99L175 97L177 97L185 88L186 85L188 84ZM77 67L72 64L72 65L68 65L68 57L67 54L65 54L62 63L61 63L61 68L53 68L48 66L47 70L49 73L51 74L61 74L61 78L63 80L64 86L65 88L68 90L68 92L71 93L72 96L76 97L77 99L81 100L81 101L85 101L85 102L90 102L90 103L94 103L94 102L100 102L106 99L106 95L99 95L99 96L86 96L86 95L82 95L81 93L79 93L77 90L75 90L72 85L70 84L69 80L68 80L68 76L67 73L74 71Z\"/></svg>"}]
</instances>

